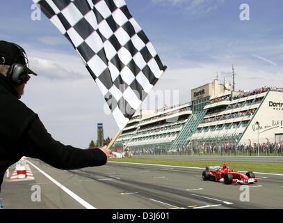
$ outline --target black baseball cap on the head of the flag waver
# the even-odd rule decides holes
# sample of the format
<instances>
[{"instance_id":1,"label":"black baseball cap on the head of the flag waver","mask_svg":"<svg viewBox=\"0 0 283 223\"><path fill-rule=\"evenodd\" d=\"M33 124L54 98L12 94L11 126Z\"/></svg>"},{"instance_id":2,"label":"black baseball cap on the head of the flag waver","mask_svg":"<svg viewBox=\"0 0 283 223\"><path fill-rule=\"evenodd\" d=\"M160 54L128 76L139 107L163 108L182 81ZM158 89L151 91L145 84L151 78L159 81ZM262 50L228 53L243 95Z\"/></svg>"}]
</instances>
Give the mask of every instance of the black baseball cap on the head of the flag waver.
<instances>
[{"instance_id":1,"label":"black baseball cap on the head of the flag waver","mask_svg":"<svg viewBox=\"0 0 283 223\"><path fill-rule=\"evenodd\" d=\"M0 40L0 65L12 66L13 63L20 63L26 66L29 74L37 76L35 72L29 69L26 52L22 47L15 43Z\"/></svg>"}]
</instances>

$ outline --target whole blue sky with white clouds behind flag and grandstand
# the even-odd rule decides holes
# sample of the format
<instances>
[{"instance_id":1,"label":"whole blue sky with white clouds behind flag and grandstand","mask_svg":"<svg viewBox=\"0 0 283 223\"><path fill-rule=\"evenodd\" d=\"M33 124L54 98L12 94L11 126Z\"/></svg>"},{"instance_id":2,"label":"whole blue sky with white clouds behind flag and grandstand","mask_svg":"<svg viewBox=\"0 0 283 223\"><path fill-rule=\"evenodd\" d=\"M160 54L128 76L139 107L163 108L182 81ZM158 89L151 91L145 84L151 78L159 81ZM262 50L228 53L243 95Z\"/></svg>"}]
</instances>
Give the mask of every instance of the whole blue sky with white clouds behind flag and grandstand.
<instances>
[{"instance_id":1,"label":"whole blue sky with white clouds behind flag and grandstand","mask_svg":"<svg viewBox=\"0 0 283 223\"><path fill-rule=\"evenodd\" d=\"M39 74L21 100L64 144L87 148L97 138L97 123L104 123L104 136L113 137L118 126L72 45L43 13L41 20L31 19L32 1L0 1L0 40L24 47L30 67ZM126 2L168 66L149 97L169 92L172 98L177 92L180 103L189 102L191 89L212 82L217 74L230 82L232 64L237 90L283 86L282 0Z\"/></svg>"}]
</instances>

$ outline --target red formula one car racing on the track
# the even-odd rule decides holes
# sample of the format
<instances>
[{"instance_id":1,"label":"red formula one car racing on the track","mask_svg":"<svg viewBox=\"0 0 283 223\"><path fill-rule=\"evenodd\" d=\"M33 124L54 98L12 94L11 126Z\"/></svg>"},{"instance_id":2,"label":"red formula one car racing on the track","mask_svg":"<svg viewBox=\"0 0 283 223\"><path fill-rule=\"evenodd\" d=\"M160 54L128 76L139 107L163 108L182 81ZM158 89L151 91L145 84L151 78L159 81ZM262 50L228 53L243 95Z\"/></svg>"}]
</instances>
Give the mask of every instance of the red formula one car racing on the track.
<instances>
[{"instance_id":1,"label":"red formula one car racing on the track","mask_svg":"<svg viewBox=\"0 0 283 223\"><path fill-rule=\"evenodd\" d=\"M223 164L222 167L206 167L206 169L202 172L202 179L223 182L225 184L246 184L257 182L257 178L255 178L254 173L248 172L246 174L242 174L234 169L229 169L227 164Z\"/></svg>"}]
</instances>

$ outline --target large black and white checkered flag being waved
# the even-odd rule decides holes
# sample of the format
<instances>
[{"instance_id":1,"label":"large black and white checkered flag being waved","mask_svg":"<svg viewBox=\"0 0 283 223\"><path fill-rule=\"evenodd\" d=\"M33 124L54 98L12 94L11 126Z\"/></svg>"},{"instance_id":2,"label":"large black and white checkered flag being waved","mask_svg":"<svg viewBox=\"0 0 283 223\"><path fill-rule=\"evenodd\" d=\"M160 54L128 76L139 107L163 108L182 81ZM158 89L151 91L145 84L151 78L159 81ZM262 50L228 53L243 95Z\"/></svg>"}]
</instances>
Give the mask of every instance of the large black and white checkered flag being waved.
<instances>
[{"instance_id":1,"label":"large black and white checkered flag being waved","mask_svg":"<svg viewBox=\"0 0 283 223\"><path fill-rule=\"evenodd\" d=\"M33 0L70 40L122 130L163 73L124 0Z\"/></svg>"}]
</instances>

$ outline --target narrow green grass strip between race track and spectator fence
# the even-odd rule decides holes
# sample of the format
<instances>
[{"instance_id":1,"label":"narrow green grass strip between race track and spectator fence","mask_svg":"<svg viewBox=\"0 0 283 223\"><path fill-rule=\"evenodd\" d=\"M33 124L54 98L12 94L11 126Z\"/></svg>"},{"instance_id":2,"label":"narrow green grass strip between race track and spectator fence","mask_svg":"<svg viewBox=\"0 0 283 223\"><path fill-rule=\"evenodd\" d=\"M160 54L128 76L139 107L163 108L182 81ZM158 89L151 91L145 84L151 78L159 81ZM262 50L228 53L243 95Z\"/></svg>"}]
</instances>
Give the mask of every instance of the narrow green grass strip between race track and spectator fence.
<instances>
[{"instance_id":1,"label":"narrow green grass strip between race track and spectator fence","mask_svg":"<svg viewBox=\"0 0 283 223\"><path fill-rule=\"evenodd\" d=\"M221 161L210 160L163 160L163 159L139 159L139 158L123 158L123 159L111 159L114 162L134 162L143 164L161 164L170 166L181 167L207 167L207 166L219 166ZM243 171L264 172L272 174L283 174L282 163L270 163L270 162L227 162L229 168Z\"/></svg>"}]
</instances>

